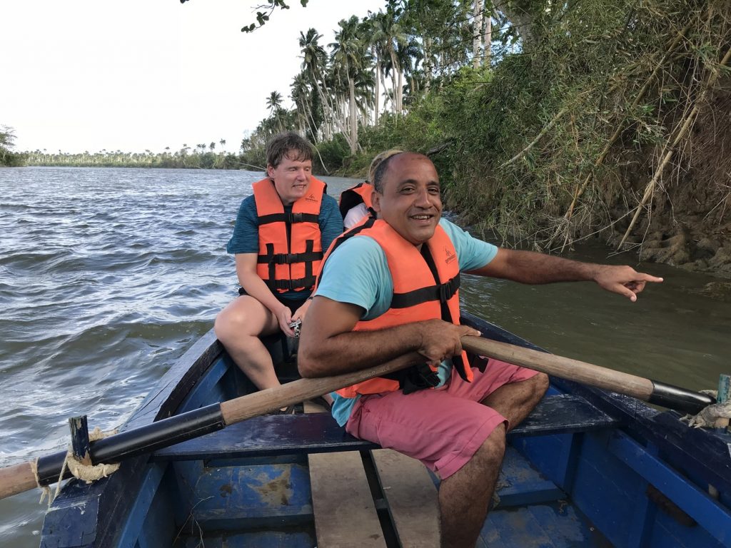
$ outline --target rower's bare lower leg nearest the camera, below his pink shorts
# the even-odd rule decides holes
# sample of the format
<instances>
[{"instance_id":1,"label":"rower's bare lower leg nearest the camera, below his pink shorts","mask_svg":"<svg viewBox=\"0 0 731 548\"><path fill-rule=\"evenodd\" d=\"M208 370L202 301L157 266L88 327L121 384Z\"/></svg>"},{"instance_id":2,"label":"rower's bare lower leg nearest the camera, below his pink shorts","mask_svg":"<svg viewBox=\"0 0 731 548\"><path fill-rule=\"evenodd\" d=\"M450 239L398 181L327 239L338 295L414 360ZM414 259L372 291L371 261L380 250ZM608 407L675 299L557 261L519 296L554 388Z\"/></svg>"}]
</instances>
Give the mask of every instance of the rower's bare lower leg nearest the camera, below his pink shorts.
<instances>
[{"instance_id":1,"label":"rower's bare lower leg nearest the camera, below his pink shorts","mask_svg":"<svg viewBox=\"0 0 731 548\"><path fill-rule=\"evenodd\" d=\"M501 423L472 458L439 485L442 548L474 547L488 515L505 453Z\"/></svg>"}]
</instances>

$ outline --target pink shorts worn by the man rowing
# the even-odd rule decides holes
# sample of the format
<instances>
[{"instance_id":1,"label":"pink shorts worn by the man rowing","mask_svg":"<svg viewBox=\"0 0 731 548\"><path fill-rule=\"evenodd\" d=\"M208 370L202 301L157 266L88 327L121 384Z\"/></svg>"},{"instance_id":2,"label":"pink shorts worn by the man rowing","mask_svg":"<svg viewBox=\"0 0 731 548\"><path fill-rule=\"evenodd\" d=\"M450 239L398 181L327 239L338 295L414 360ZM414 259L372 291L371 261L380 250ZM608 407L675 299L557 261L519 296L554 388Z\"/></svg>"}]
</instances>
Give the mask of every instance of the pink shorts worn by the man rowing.
<instances>
[{"instance_id":1,"label":"pink shorts worn by the man rowing","mask_svg":"<svg viewBox=\"0 0 731 548\"><path fill-rule=\"evenodd\" d=\"M472 373L471 383L452 371L447 384L437 389L362 396L345 428L356 438L414 457L448 478L497 425L505 422L507 427L504 416L480 402L504 384L525 381L537 372L490 359L485 373L477 368Z\"/></svg>"}]
</instances>

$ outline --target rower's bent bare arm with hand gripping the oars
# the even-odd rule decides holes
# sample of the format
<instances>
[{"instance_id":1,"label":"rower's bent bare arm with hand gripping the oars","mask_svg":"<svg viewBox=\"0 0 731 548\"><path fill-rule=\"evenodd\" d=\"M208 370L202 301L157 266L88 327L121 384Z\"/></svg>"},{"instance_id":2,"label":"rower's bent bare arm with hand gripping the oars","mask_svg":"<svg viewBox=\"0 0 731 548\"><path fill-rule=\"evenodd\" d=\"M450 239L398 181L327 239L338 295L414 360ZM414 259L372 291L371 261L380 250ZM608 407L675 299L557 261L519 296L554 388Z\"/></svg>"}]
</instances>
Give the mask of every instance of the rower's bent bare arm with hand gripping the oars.
<instances>
[{"instance_id":1,"label":"rower's bent bare arm with hand gripping the oars","mask_svg":"<svg viewBox=\"0 0 731 548\"><path fill-rule=\"evenodd\" d=\"M436 365L462 351L463 335L480 335L471 327L440 319L416 321L376 331L352 331L363 308L317 296L302 324L298 367L303 377L349 373L416 351Z\"/></svg>"}]
</instances>

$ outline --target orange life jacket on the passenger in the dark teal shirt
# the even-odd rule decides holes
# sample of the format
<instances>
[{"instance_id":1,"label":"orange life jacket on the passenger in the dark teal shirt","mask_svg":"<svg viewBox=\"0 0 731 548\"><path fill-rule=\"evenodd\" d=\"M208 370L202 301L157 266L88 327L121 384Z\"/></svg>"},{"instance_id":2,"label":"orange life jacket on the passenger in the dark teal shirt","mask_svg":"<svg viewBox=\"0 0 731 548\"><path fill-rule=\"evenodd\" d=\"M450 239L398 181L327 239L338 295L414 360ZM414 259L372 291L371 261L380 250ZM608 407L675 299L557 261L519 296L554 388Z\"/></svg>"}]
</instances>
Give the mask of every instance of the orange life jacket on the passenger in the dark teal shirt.
<instances>
[{"instance_id":1,"label":"orange life jacket on the passenger in the dark teal shirt","mask_svg":"<svg viewBox=\"0 0 731 548\"><path fill-rule=\"evenodd\" d=\"M259 217L257 274L272 292L310 291L322 262L319 211L325 183L310 178L307 194L284 213L271 179L254 183Z\"/></svg>"}]
</instances>

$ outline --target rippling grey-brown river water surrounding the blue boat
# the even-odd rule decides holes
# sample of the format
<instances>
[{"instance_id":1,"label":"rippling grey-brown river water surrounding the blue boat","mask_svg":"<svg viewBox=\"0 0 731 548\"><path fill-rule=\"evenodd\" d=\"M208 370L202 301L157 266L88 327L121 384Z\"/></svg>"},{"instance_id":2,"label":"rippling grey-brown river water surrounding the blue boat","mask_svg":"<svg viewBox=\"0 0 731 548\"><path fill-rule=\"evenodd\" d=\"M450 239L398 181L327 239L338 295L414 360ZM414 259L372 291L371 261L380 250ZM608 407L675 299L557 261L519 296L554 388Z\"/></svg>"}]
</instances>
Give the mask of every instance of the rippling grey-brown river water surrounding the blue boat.
<instances>
[{"instance_id":1,"label":"rippling grey-brown river water surrounding the blue boat","mask_svg":"<svg viewBox=\"0 0 731 548\"><path fill-rule=\"evenodd\" d=\"M67 445L68 418L120 425L235 295L226 254L260 173L0 169L0 466ZM352 179L325 178L337 197ZM522 286L466 276L465 307L567 357L715 388L728 373L731 307L708 275L629 262L665 278L632 303L592 283ZM37 547L39 491L0 501L0 547Z\"/></svg>"}]
</instances>

